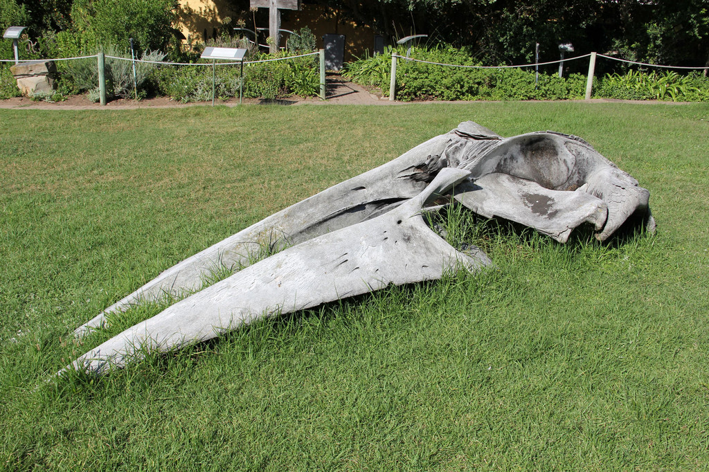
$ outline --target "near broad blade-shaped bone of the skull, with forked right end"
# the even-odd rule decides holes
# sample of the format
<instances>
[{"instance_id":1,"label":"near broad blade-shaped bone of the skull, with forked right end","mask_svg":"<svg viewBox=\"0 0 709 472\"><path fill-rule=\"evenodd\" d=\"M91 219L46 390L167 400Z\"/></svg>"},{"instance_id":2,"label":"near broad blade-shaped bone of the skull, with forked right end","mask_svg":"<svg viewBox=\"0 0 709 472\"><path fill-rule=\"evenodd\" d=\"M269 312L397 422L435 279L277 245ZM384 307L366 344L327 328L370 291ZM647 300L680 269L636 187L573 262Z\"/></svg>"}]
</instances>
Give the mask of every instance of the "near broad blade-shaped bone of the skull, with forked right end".
<instances>
[{"instance_id":1,"label":"near broad blade-shaped bone of the skull, with forked right end","mask_svg":"<svg viewBox=\"0 0 709 472\"><path fill-rule=\"evenodd\" d=\"M272 313L311 308L390 283L440 279L458 267L480 270L490 263L483 252L458 252L428 227L422 215L427 201L468 175L463 169L443 169L423 192L398 208L248 266L128 328L79 357L73 366L106 373L139 357L143 349L179 349Z\"/></svg>"}]
</instances>

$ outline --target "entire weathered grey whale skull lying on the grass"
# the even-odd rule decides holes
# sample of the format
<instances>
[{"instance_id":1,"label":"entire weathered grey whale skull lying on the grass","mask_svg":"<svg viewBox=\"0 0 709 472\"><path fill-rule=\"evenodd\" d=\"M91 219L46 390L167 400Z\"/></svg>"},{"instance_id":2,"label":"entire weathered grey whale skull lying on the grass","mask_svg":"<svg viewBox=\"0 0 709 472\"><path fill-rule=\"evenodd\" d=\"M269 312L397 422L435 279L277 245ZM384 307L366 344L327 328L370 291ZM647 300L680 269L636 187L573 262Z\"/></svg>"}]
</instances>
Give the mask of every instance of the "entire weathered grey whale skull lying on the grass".
<instances>
[{"instance_id":1,"label":"entire weathered grey whale skull lying on the grass","mask_svg":"<svg viewBox=\"0 0 709 472\"><path fill-rule=\"evenodd\" d=\"M274 313L391 283L440 279L458 268L479 271L491 264L486 254L476 247L457 251L425 221L427 206L446 194L474 213L533 227L559 242L584 223L600 241L628 220L649 232L655 227L649 191L581 138L552 131L503 138L468 121L162 272L74 334L106 327L108 316L133 305L196 293L67 368L106 373L146 349L179 349ZM249 265L264 245L279 252ZM200 290L223 266L246 267Z\"/></svg>"}]
</instances>

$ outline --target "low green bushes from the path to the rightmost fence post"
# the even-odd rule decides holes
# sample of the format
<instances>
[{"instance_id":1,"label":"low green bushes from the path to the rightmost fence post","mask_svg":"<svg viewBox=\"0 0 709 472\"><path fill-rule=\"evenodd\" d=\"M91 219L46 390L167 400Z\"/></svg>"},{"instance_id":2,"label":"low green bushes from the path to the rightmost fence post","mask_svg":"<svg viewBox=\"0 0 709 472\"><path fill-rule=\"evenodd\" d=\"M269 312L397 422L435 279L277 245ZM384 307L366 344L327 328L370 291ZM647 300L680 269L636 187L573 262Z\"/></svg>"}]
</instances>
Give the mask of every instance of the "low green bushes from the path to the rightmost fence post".
<instances>
[{"instance_id":1,"label":"low green bushes from the path to the rightmost fence post","mask_svg":"<svg viewBox=\"0 0 709 472\"><path fill-rule=\"evenodd\" d=\"M398 55L404 55L400 49ZM465 50L454 47L414 49L413 59L457 64L480 65ZM365 57L346 65L343 75L359 84L379 86L389 93L391 52ZM559 100L581 99L586 77L571 74L564 79L555 74L540 74L530 69L469 69L446 67L400 59L396 71L396 96L410 100Z\"/></svg>"}]
</instances>

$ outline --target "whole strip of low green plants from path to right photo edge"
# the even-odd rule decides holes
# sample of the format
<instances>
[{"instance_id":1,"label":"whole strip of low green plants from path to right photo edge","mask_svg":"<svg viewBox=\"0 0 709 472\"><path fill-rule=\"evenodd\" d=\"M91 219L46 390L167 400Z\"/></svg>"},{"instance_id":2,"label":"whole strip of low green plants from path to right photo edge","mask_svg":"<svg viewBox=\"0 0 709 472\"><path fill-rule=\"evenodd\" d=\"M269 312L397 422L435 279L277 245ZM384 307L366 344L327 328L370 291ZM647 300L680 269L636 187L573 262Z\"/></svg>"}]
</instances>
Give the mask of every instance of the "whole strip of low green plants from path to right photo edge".
<instances>
[{"instance_id":1,"label":"whole strip of low green plants from path to right photo edge","mask_svg":"<svg viewBox=\"0 0 709 472\"><path fill-rule=\"evenodd\" d=\"M398 55L405 52L400 48ZM417 48L411 58L457 64L481 65L467 50L454 47ZM555 66L554 66L555 67ZM391 74L391 50L347 64L343 75L363 85L376 86L387 95ZM586 76L559 78L549 68L537 77L532 68L470 69L425 62L398 60L396 98L411 100L559 100L582 99ZM630 100L709 101L709 79L697 73L628 72L596 79L594 96Z\"/></svg>"}]
</instances>

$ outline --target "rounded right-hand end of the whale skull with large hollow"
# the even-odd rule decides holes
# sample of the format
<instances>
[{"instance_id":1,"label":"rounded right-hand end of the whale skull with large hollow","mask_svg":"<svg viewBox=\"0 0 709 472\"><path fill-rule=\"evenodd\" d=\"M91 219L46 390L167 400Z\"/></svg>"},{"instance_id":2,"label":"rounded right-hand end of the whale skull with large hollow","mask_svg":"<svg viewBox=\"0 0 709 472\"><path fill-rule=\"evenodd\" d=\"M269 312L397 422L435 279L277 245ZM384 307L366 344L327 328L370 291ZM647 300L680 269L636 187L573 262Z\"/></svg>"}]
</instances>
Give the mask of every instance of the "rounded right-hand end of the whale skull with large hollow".
<instances>
[{"instance_id":1,"label":"rounded right-hand end of the whale skull with large hollow","mask_svg":"<svg viewBox=\"0 0 709 472\"><path fill-rule=\"evenodd\" d=\"M467 201L470 204L471 210L477 208L523 223L560 242L565 242L570 230L584 221L593 223L597 230L596 238L605 241L632 215L641 215L647 229L654 231L649 191L638 186L637 180L630 174L618 169L579 137L553 131L509 137L501 140L496 147L469 159L463 167L471 171L473 179L485 191L485 203L479 201L482 194L478 198L470 195L467 199L461 199L462 203ZM507 193L511 191L524 196L534 187L530 186L530 182L536 184L536 193L542 198L552 198L554 206L559 209L565 206L569 211L574 204L581 204L576 194L579 192L598 199L598 212L584 206L588 218L580 218L577 210L566 217L556 215L552 222L548 213L528 211L527 206L522 204L523 198L516 198L517 205L510 204L515 199L508 198ZM601 203L607 208L605 218ZM591 205L591 201L586 199L584 205ZM569 231L563 229L564 225Z\"/></svg>"}]
</instances>

